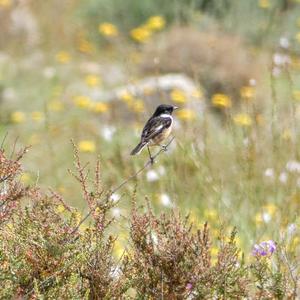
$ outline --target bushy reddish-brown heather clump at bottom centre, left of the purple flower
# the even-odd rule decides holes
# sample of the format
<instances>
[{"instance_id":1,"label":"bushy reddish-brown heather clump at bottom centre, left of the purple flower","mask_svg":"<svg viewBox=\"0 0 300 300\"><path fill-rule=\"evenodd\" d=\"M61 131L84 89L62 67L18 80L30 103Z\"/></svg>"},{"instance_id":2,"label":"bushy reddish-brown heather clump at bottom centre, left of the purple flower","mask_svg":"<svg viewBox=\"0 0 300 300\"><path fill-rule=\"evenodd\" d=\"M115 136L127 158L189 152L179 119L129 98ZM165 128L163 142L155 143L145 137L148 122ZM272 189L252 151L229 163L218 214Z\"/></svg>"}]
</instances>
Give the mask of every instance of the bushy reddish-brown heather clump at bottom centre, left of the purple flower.
<instances>
[{"instance_id":1,"label":"bushy reddish-brown heather clump at bottom centre, left of the purple flower","mask_svg":"<svg viewBox=\"0 0 300 300\"><path fill-rule=\"evenodd\" d=\"M138 299L245 296L247 269L238 258L235 234L220 239L213 262L207 224L193 230L188 216L176 211L156 217L151 209L138 213L133 208L127 276Z\"/></svg>"}]
</instances>

